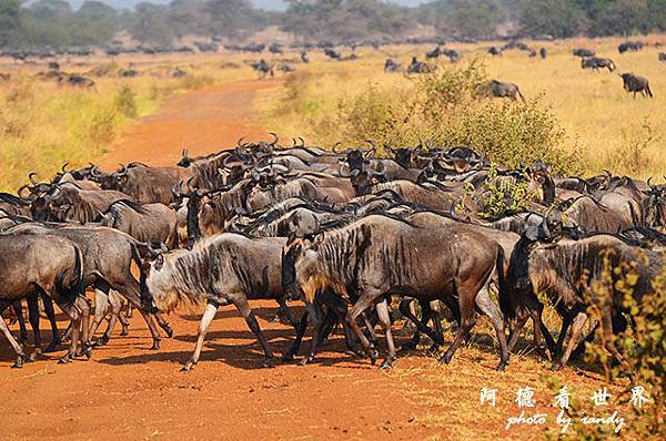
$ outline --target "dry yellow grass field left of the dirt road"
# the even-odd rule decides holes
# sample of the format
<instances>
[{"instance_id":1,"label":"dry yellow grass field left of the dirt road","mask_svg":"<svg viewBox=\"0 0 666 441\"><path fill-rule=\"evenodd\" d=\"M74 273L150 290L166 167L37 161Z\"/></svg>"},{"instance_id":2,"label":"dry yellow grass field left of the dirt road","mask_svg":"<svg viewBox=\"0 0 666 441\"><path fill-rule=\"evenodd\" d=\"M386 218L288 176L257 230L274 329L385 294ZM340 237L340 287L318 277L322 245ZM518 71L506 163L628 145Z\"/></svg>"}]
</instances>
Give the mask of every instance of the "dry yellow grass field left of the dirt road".
<instances>
[{"instance_id":1,"label":"dry yellow grass field left of the dirt road","mask_svg":"<svg viewBox=\"0 0 666 441\"><path fill-rule=\"evenodd\" d=\"M234 60L242 65L239 57ZM14 191L29 172L50 178L69 161L72 166L94 162L109 151L122 131L138 117L151 114L168 96L212 84L252 78L250 68L221 68L221 57L129 58L71 60L61 63L68 73L91 76L95 90L60 88L34 75L43 65L0 64L11 72L0 82L0 191ZM141 75L121 79L120 69L134 63ZM180 68L186 76L172 78ZM97 70L103 76L93 76Z\"/></svg>"}]
</instances>

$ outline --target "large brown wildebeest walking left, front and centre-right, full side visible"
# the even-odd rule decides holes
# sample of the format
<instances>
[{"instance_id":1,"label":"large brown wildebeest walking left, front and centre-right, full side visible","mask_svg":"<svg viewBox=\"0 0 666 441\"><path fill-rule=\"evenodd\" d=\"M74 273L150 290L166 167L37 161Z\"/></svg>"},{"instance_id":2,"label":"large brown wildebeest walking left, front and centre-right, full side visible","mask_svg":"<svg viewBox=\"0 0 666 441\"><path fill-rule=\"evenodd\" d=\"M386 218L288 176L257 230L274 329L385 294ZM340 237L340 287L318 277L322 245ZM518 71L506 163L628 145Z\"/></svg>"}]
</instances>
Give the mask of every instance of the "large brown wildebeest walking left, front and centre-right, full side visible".
<instances>
[{"instance_id":1,"label":"large brown wildebeest walking left, front and centre-right, full side visible","mask_svg":"<svg viewBox=\"0 0 666 441\"><path fill-rule=\"evenodd\" d=\"M302 294L306 305L312 305L316 293L324 289L332 289L342 298L350 298L350 291L354 293L357 300L346 321L373 361L379 353L356 319L380 300L375 307L389 343L389 356L382 367L395 359L385 296L394 294L425 301L457 296L461 328L441 358L442 362L450 362L475 324L474 301L478 291L496 268L502 281L504 275L504 254L500 245L475 232L457 234L460 240L453 240L443 228L421 228L387 216L371 215L317 235L314 240L293 240L290 248L300 249L292 254L295 277L293 281L287 279L285 289L290 297ZM504 284L500 283L500 287L503 290ZM498 339L504 341L503 336ZM500 370L508 361L505 346L501 352Z\"/></svg>"}]
</instances>

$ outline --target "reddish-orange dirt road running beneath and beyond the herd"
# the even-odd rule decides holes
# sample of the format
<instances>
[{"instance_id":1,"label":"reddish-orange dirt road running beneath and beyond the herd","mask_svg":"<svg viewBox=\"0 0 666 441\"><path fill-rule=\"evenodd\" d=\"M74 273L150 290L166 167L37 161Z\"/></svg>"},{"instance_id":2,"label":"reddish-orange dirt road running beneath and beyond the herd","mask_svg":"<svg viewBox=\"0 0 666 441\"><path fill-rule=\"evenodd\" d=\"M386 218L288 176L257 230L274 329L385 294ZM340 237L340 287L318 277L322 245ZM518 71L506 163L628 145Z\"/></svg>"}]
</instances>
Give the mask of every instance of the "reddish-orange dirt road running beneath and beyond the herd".
<instances>
[{"instance_id":1,"label":"reddish-orange dirt road running beneath and beyond the herd","mask_svg":"<svg viewBox=\"0 0 666 441\"><path fill-rule=\"evenodd\" d=\"M183 147L203 154L233 145L240 136L265 139L266 131L253 123L251 102L255 90L273 84L240 82L174 96L132 127L102 165L167 165L178 161ZM269 322L274 302L252 306L280 356L293 329ZM422 351L383 372L345 353L336 335L310 366L276 361L260 368L259 345L232 307L218 314L200 363L183 373L179 369L193 350L199 318L199 312L186 311L170 316L175 337L151 351L147 327L134 317L130 336L114 336L91 360L68 366L57 365L60 351L21 370L9 369L13 356L2 341L0 439L541 438L538 428L504 430L506 416L516 413L512 393L518 383L537 390L535 412L551 410L548 391L538 389L546 365L523 357L507 373L497 373L494 342L487 336L480 338L484 345L458 350L447 367ZM405 338L400 329L397 335ZM569 384L589 382L566 372L575 380ZM503 410L480 408L483 386L500 388Z\"/></svg>"}]
</instances>

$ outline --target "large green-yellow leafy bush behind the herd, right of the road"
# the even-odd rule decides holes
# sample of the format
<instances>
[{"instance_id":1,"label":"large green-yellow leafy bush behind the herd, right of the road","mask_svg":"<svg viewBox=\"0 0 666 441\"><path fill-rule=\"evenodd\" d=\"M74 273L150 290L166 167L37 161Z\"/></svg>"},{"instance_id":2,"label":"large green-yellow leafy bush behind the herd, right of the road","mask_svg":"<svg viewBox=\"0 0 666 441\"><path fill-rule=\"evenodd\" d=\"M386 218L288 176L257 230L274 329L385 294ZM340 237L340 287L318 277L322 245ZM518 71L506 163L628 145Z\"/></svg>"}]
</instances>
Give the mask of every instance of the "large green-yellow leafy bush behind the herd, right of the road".
<instances>
[{"instance_id":1,"label":"large green-yellow leafy bush behind the herd, right of the road","mask_svg":"<svg viewBox=\"0 0 666 441\"><path fill-rule=\"evenodd\" d=\"M487 80L485 66L473 60L466 66L437 70L414 80L415 90L382 90L374 84L342 99L329 130L340 139L361 143L454 147L467 145L502 166L519 167L537 160L562 173L581 173L586 164L579 153L564 148L565 131L541 98L514 103L478 98ZM329 133L320 135L330 136Z\"/></svg>"}]
</instances>

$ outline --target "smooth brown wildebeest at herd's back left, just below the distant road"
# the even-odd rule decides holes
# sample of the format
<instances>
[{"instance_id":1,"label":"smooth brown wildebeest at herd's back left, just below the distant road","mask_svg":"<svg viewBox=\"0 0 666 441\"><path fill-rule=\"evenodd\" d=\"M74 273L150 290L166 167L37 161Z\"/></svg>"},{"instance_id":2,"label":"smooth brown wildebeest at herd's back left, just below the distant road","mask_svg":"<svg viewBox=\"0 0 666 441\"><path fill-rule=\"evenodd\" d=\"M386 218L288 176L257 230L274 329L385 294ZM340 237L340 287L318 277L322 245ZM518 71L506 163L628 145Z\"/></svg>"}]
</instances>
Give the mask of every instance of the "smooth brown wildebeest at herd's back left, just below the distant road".
<instances>
[{"instance_id":1,"label":"smooth brown wildebeest at herd's back left, just below the distant road","mask_svg":"<svg viewBox=\"0 0 666 441\"><path fill-rule=\"evenodd\" d=\"M142 204L171 202L171 191L180 182L191 177L183 167L151 167L131 163L102 180L102 189L115 189Z\"/></svg>"}]
</instances>

